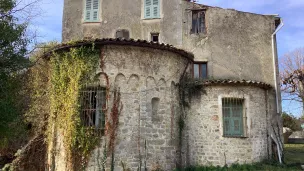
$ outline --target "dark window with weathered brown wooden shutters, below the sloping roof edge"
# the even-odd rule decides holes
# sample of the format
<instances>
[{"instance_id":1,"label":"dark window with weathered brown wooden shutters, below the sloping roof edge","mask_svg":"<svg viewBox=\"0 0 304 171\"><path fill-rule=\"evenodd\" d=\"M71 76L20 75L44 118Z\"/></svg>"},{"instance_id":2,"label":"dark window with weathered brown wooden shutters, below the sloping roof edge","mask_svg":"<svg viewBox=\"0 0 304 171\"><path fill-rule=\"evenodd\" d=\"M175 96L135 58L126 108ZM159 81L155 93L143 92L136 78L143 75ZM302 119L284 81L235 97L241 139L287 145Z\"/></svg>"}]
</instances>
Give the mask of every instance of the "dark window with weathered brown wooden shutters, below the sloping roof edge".
<instances>
[{"instance_id":1,"label":"dark window with weathered brown wooden shutters, below the sloping roof edge","mask_svg":"<svg viewBox=\"0 0 304 171\"><path fill-rule=\"evenodd\" d=\"M205 33L206 20L205 11L192 11L192 28L191 33Z\"/></svg>"}]
</instances>

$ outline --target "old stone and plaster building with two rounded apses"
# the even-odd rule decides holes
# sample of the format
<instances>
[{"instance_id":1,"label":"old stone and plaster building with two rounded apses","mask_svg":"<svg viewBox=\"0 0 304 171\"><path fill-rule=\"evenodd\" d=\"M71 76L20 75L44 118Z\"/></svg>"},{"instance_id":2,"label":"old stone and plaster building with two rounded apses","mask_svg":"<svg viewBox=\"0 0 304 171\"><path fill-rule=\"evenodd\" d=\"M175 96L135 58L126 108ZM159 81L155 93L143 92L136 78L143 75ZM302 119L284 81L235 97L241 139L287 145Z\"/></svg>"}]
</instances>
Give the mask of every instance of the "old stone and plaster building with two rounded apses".
<instances>
[{"instance_id":1,"label":"old stone and plaster building with two rounded apses","mask_svg":"<svg viewBox=\"0 0 304 171\"><path fill-rule=\"evenodd\" d=\"M122 93L115 170L121 163L173 170L270 158L281 148L282 24L277 15L189 0L64 0L63 42L96 39L105 59L96 73ZM191 98L183 99L183 84L194 87ZM103 147L92 152L88 170L98 169ZM64 153L55 158L54 170L65 170Z\"/></svg>"}]
</instances>

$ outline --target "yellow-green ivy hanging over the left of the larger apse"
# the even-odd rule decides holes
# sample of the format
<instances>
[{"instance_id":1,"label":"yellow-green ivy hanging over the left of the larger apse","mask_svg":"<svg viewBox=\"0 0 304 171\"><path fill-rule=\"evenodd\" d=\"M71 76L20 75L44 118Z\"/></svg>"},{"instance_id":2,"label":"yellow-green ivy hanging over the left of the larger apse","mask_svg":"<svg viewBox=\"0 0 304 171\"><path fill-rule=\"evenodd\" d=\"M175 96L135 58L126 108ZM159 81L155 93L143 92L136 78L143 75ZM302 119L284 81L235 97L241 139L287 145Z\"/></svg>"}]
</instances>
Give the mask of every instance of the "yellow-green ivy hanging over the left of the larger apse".
<instances>
[{"instance_id":1,"label":"yellow-green ivy hanging over the left of the larger apse","mask_svg":"<svg viewBox=\"0 0 304 171\"><path fill-rule=\"evenodd\" d=\"M71 48L68 52L53 53L50 58L50 115L48 144L62 136L68 170L84 168L87 158L98 144L94 128L84 127L80 119L79 92L93 82L98 66L99 49ZM55 153L55 150L52 150ZM55 154L52 154L55 155Z\"/></svg>"}]
</instances>

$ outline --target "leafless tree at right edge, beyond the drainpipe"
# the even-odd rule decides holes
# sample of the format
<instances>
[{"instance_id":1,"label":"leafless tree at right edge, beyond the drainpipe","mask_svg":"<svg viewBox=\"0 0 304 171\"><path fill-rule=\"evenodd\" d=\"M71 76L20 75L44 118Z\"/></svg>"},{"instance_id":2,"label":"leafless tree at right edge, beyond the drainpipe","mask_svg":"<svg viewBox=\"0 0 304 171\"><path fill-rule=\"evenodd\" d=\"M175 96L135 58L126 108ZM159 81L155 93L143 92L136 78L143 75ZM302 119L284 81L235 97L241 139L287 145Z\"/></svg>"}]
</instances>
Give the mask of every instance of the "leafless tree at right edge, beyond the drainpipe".
<instances>
[{"instance_id":1,"label":"leafless tree at right edge, beyond the drainpipe","mask_svg":"<svg viewBox=\"0 0 304 171\"><path fill-rule=\"evenodd\" d=\"M304 48L286 53L280 64L283 100L300 102L304 111Z\"/></svg>"}]
</instances>

